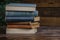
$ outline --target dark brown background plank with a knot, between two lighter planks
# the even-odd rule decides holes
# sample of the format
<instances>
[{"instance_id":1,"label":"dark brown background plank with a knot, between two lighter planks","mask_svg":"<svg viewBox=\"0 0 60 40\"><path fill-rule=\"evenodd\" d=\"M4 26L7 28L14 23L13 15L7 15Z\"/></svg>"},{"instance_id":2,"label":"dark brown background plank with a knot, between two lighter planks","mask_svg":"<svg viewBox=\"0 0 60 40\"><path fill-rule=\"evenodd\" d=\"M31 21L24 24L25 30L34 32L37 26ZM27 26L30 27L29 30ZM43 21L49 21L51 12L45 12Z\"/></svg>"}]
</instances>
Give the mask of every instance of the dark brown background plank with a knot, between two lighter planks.
<instances>
[{"instance_id":1,"label":"dark brown background plank with a knot, between two lighter planks","mask_svg":"<svg viewBox=\"0 0 60 40\"><path fill-rule=\"evenodd\" d=\"M60 7L37 7L37 10L42 17L60 17Z\"/></svg>"}]
</instances>

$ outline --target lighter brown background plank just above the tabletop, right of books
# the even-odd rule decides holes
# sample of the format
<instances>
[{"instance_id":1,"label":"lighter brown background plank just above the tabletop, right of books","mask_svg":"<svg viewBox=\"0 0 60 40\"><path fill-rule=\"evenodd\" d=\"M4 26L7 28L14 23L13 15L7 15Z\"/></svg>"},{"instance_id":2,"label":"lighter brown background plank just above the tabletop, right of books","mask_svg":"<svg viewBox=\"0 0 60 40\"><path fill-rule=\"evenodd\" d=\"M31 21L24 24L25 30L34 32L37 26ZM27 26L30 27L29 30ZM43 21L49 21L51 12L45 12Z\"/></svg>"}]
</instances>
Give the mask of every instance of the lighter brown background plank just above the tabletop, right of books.
<instances>
[{"instance_id":1,"label":"lighter brown background plank just above the tabletop, right of books","mask_svg":"<svg viewBox=\"0 0 60 40\"><path fill-rule=\"evenodd\" d=\"M60 26L60 17L41 17L40 25Z\"/></svg>"}]
</instances>

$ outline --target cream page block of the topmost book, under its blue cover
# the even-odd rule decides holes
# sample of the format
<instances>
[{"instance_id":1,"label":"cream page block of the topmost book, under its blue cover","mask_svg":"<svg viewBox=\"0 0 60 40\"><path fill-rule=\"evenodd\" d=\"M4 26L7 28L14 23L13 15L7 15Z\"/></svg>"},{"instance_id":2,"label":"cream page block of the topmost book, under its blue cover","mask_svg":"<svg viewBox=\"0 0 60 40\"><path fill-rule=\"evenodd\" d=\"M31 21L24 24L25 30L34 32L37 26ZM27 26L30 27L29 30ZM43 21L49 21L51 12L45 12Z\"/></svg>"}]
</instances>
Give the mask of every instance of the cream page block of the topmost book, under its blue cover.
<instances>
[{"instance_id":1,"label":"cream page block of the topmost book, under its blue cover","mask_svg":"<svg viewBox=\"0 0 60 40\"><path fill-rule=\"evenodd\" d=\"M8 6L6 7L6 11L35 11L36 8L35 7L11 7Z\"/></svg>"}]
</instances>

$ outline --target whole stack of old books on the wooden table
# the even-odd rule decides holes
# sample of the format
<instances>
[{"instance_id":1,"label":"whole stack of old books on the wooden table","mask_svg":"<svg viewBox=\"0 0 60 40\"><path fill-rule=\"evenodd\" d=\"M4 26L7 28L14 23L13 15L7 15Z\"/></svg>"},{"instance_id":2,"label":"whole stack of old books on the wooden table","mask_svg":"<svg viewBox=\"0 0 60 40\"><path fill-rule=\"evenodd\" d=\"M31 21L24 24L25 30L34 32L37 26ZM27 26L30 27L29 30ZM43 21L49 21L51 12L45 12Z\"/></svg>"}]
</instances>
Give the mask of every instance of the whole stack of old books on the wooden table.
<instances>
[{"instance_id":1,"label":"whole stack of old books on the wooden table","mask_svg":"<svg viewBox=\"0 0 60 40\"><path fill-rule=\"evenodd\" d=\"M34 34L40 27L36 4L10 3L6 5L7 34Z\"/></svg>"}]
</instances>

